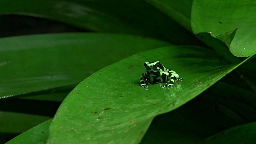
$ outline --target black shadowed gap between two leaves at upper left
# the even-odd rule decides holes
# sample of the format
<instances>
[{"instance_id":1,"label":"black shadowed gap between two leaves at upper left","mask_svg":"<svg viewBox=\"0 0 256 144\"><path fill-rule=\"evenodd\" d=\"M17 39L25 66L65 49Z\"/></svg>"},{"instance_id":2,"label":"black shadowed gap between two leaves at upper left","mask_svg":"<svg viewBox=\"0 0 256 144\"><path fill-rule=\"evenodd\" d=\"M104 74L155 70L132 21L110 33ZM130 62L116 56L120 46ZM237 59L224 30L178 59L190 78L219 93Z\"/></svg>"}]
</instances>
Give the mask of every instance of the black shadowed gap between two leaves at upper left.
<instances>
[{"instance_id":1,"label":"black shadowed gap between two leaves at upper left","mask_svg":"<svg viewBox=\"0 0 256 144\"><path fill-rule=\"evenodd\" d=\"M62 32L89 32L62 22L22 15L0 16L0 38L29 34L46 34Z\"/></svg>"}]
</instances>

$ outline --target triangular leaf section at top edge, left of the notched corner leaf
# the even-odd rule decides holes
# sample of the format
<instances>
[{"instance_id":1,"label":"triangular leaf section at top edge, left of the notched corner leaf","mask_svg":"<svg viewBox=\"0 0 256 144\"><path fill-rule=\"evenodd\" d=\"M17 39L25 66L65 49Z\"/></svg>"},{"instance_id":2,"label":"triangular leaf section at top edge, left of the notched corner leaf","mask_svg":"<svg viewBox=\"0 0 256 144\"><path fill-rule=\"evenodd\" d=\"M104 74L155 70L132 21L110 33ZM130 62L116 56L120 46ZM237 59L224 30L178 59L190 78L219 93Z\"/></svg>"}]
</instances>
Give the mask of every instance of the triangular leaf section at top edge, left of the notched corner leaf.
<instances>
[{"instance_id":1,"label":"triangular leaf section at top edge, left of the notched corner leaf","mask_svg":"<svg viewBox=\"0 0 256 144\"><path fill-rule=\"evenodd\" d=\"M192 0L146 0L168 16L176 20L180 25L192 32L190 14Z\"/></svg>"}]
</instances>

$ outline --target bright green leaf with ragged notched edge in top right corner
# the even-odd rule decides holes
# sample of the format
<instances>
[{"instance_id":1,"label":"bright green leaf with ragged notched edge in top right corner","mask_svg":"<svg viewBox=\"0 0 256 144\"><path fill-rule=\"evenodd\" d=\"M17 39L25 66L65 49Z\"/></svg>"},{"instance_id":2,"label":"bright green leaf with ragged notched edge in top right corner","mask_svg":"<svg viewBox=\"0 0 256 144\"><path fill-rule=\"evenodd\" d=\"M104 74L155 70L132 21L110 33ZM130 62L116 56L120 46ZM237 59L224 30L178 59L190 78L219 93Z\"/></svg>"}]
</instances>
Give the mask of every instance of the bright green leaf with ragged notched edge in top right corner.
<instances>
[{"instance_id":1,"label":"bright green leaf with ragged notched edge in top right corner","mask_svg":"<svg viewBox=\"0 0 256 144\"><path fill-rule=\"evenodd\" d=\"M226 42L234 56L252 56L256 53L255 6L254 0L194 0L192 30L194 33L209 32Z\"/></svg>"}]
</instances>

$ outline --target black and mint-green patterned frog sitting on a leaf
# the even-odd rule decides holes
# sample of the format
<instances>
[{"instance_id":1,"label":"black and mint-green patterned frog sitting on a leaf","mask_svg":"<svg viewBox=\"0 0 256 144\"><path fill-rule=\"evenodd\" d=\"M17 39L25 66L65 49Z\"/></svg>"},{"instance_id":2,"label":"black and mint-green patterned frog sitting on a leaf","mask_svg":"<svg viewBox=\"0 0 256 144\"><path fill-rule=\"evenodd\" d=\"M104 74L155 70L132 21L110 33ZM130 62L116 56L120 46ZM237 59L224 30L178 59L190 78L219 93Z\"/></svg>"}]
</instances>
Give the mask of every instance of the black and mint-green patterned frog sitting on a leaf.
<instances>
[{"instance_id":1,"label":"black and mint-green patterned frog sitting on a leaf","mask_svg":"<svg viewBox=\"0 0 256 144\"><path fill-rule=\"evenodd\" d=\"M182 81L183 79L174 71L166 68L159 61L156 62L145 62L144 66L146 72L142 74L140 78L140 86L148 88L148 84L152 83L166 83L162 85L162 88L172 87L174 82Z\"/></svg>"}]
</instances>

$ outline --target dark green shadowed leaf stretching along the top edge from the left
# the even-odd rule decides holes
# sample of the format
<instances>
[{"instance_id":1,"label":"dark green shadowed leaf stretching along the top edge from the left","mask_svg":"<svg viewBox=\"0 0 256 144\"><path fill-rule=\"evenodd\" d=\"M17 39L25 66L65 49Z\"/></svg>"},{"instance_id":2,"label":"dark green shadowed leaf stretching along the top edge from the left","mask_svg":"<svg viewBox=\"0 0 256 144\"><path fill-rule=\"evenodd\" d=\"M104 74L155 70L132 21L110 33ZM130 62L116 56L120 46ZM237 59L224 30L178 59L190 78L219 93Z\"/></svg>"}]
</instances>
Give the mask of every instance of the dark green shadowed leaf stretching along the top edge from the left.
<instances>
[{"instance_id":1,"label":"dark green shadowed leaf stretching along the top edge from the left","mask_svg":"<svg viewBox=\"0 0 256 144\"><path fill-rule=\"evenodd\" d=\"M96 32L202 45L185 28L143 0L1 0L0 14L36 16Z\"/></svg>"}]
</instances>

